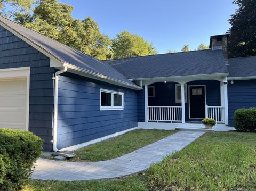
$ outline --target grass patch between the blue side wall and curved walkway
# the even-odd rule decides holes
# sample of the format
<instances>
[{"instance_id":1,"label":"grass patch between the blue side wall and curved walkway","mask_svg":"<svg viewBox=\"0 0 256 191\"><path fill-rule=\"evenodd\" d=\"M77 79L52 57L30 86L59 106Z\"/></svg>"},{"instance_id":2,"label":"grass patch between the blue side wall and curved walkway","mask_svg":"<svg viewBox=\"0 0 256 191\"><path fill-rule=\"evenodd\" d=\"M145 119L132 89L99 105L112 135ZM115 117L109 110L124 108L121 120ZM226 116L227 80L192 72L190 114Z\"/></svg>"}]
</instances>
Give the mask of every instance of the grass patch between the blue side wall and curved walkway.
<instances>
[{"instance_id":1,"label":"grass patch between the blue side wall and curved walkway","mask_svg":"<svg viewBox=\"0 0 256 191\"><path fill-rule=\"evenodd\" d=\"M68 161L104 161L114 159L139 148L156 142L178 132L177 130L137 129L121 136L103 140L102 142L81 148L74 153L75 157Z\"/></svg>"}]
</instances>

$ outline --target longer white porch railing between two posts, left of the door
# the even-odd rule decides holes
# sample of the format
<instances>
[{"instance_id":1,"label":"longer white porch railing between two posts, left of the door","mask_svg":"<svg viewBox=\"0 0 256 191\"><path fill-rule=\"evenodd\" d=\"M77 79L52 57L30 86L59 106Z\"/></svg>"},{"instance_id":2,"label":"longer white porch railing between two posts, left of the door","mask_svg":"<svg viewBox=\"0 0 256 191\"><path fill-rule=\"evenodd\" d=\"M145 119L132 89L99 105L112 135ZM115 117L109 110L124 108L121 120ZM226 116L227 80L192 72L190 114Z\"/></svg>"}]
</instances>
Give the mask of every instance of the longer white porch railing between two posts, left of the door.
<instances>
[{"instance_id":1,"label":"longer white porch railing between two posts, left of the door","mask_svg":"<svg viewBox=\"0 0 256 191\"><path fill-rule=\"evenodd\" d=\"M148 121L182 122L181 106L148 106Z\"/></svg>"}]
</instances>

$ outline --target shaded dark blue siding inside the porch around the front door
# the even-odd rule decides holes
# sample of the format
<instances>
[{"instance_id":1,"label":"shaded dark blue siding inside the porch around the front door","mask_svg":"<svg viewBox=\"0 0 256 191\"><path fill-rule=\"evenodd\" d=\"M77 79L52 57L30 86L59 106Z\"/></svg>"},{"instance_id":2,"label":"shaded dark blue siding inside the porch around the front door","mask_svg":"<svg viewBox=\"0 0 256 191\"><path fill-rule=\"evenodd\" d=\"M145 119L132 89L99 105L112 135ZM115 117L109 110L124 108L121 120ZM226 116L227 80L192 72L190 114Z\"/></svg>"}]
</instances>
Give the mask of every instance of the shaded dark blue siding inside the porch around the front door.
<instances>
[{"instance_id":1,"label":"shaded dark blue siding inside the porch around the front door","mask_svg":"<svg viewBox=\"0 0 256 191\"><path fill-rule=\"evenodd\" d=\"M148 105L150 106L181 106L181 103L175 103L175 82L158 82L151 84L155 86L155 97L148 98ZM190 81L187 84L190 85L206 85L206 103L209 106L220 105L220 82L215 80L204 81ZM187 93L189 89L187 88ZM143 96L142 96L143 94ZM141 121L145 122L145 106L144 93L139 92L138 96L138 121L141 116ZM143 107L143 108L142 108ZM186 121L201 121L201 119L189 119L189 107L188 102L185 103ZM143 119L143 120L142 120Z\"/></svg>"}]
</instances>

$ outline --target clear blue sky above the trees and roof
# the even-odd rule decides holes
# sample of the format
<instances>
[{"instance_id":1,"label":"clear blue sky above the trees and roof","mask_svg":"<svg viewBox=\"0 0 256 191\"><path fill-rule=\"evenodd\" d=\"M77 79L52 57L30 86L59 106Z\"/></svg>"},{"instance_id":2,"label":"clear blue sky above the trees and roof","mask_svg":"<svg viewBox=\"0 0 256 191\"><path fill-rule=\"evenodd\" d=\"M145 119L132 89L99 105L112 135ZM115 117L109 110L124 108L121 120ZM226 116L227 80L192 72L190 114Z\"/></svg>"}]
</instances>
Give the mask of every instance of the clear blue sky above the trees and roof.
<instances>
[{"instance_id":1,"label":"clear blue sky above the trees and roof","mask_svg":"<svg viewBox=\"0 0 256 191\"><path fill-rule=\"evenodd\" d=\"M235 12L233 0L59 0L74 7L73 17L91 16L103 34L114 38L128 30L153 43L158 53L189 44L209 45L211 35L225 34Z\"/></svg>"}]
</instances>

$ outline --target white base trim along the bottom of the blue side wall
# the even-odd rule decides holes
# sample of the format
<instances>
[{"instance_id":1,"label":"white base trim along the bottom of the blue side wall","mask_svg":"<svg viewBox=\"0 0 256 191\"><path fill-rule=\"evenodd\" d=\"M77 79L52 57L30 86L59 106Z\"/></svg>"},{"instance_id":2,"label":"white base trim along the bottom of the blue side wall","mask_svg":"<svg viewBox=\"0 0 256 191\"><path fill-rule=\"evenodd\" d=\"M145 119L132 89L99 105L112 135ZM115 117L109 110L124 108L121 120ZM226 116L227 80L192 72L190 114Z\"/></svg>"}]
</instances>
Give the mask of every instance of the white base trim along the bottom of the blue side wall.
<instances>
[{"instance_id":1,"label":"white base trim along the bottom of the blue side wall","mask_svg":"<svg viewBox=\"0 0 256 191\"><path fill-rule=\"evenodd\" d=\"M115 134L100 137L98 139L93 139L93 140L90 140L89 142L84 142L84 143L69 146L69 147L66 147L66 148L61 148L60 151L74 151L74 150L77 150L78 148L89 146L91 144L101 142L102 140L106 140L106 139L109 139L109 138L112 138L112 137L116 137L116 136L125 134L126 132L129 132L129 131L132 131L132 130L135 130L135 129L138 129L138 127L134 127L134 128L131 128L131 129L126 129L126 130L123 130L123 131L120 131L120 132L116 132Z\"/></svg>"}]
</instances>

